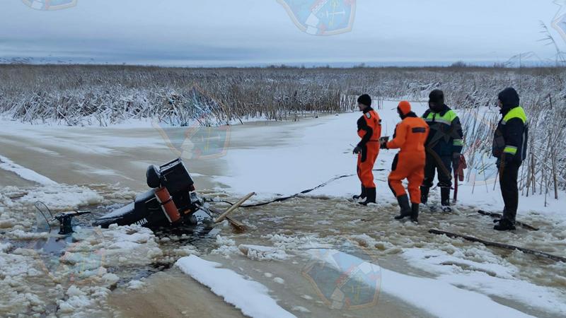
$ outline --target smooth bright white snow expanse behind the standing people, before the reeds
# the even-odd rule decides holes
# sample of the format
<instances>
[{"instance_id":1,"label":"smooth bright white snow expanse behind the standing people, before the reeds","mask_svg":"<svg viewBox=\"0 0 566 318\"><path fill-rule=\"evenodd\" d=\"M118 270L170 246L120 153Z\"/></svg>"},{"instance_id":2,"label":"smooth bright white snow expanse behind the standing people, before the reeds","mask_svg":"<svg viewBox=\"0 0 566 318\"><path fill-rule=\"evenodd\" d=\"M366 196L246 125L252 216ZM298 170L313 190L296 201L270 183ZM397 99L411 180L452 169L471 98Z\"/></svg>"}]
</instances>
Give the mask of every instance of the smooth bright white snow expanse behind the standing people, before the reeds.
<instances>
[{"instance_id":1,"label":"smooth bright white snow expanse behind the standing people, before the reeds","mask_svg":"<svg viewBox=\"0 0 566 318\"><path fill-rule=\"evenodd\" d=\"M383 136L393 136L395 125L400 121L396 107L397 102L386 101L383 110L377 110L383 121ZM427 109L427 105L422 102L412 102L412 107L417 114L423 114ZM265 138L278 145L259 149L231 149L226 156L229 171L217 179L229 187L231 192L246 194L255 191L260 194L259 199L263 199L273 194L295 194L332 177L355 174L356 156L352 155L352 150L359 142L356 134L359 116L359 112L352 112L323 117L304 129L291 130L290 136L283 141L271 138L270 129L265 129L262 132ZM386 170L374 173L378 181L378 196L386 201L391 200L391 190L386 179L396 153L397 151L381 151L374 167ZM486 160L495 163L495 158ZM308 178L302 177L307 175ZM503 201L499 184L495 185L494 190L495 180L488 179L486 184L483 176L470 179L470 182L461 184L459 188L459 203L487 211L501 211ZM358 192L359 180L354 176L340 179L311 194L347 197ZM562 209L566 204L566 194L562 194L559 200L549 199L546 207L544 196L521 196L520 201L519 215L536 211L566 219L566 213Z\"/></svg>"}]
</instances>

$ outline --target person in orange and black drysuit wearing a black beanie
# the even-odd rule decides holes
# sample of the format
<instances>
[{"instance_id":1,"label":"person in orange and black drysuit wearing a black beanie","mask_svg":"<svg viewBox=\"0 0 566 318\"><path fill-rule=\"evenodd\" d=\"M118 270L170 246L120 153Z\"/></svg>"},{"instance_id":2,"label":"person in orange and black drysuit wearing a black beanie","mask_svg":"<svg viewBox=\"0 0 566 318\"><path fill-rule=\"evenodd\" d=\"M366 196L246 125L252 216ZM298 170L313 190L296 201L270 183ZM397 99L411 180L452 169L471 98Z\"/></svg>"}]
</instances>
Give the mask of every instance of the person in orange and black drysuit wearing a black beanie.
<instances>
[{"instance_id":1,"label":"person in orange and black drysuit wearing a black beanie","mask_svg":"<svg viewBox=\"0 0 566 318\"><path fill-rule=\"evenodd\" d=\"M379 114L371 108L371 97L362 95L358 98L359 110L364 112L359 117L358 136L362 139L356 148L354 154L358 155L357 173L359 180L362 182L362 194L354 196L354 199L366 199L360 204L366 206L370 203L376 203L376 184L374 183L374 164L377 155L379 155L379 138L381 137L381 119Z\"/></svg>"}]
</instances>

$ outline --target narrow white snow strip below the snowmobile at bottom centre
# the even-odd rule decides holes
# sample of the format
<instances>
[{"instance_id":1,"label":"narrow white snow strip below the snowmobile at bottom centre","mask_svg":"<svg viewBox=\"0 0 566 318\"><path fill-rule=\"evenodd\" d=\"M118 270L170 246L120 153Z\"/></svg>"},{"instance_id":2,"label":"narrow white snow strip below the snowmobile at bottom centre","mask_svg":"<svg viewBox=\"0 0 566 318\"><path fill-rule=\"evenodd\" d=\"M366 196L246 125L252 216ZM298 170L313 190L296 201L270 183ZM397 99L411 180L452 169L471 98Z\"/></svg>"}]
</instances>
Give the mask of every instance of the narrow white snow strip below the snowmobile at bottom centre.
<instances>
[{"instance_id":1,"label":"narrow white snow strip below the snowmobile at bottom centre","mask_svg":"<svg viewBox=\"0 0 566 318\"><path fill-rule=\"evenodd\" d=\"M212 293L236 306L246 316L254 318L295 317L270 298L264 285L256 281L249 281L229 269L221 269L219 263L205 261L191 255L179 259L175 266L199 283L207 285Z\"/></svg>"}]
</instances>

